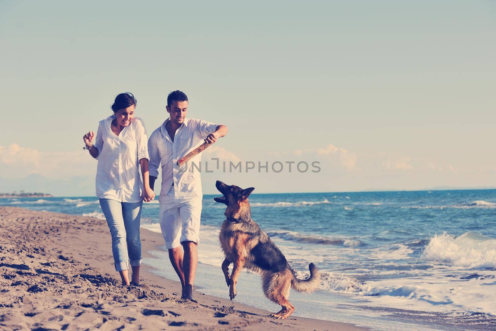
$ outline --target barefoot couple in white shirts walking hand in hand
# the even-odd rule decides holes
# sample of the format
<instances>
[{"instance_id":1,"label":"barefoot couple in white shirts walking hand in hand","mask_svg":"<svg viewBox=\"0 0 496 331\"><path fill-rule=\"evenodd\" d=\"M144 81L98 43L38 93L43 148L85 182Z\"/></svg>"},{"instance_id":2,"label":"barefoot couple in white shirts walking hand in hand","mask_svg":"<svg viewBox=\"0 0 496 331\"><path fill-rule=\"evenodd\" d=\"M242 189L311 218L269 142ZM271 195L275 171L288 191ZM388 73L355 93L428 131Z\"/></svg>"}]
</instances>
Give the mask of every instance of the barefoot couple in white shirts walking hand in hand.
<instances>
[{"instance_id":1,"label":"barefoot couple in white shirts walking hand in hand","mask_svg":"<svg viewBox=\"0 0 496 331\"><path fill-rule=\"evenodd\" d=\"M202 191L200 173L181 171L176 161L203 140L213 143L225 136L228 129L186 118L188 99L181 91L169 93L169 116L149 138L143 120L134 117L135 108L131 93L119 94L112 105L114 115L100 121L96 136L92 131L83 136L85 149L98 160L96 195L112 235L115 267L123 285L139 286L141 208L143 201L155 198L153 187L161 167L160 228L181 280L182 298L191 299L198 264ZM200 155L191 159L199 160Z\"/></svg>"}]
</instances>

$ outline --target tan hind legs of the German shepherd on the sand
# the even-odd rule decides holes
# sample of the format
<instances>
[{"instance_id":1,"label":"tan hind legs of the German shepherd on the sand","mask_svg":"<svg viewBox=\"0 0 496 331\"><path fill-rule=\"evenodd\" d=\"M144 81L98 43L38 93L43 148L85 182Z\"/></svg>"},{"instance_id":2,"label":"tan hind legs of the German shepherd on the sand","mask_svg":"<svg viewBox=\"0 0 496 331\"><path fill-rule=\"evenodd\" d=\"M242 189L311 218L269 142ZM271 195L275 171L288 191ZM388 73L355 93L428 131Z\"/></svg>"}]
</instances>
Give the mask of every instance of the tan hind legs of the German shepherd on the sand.
<instances>
[{"instance_id":1,"label":"tan hind legs of the German shepherd on the sand","mask_svg":"<svg viewBox=\"0 0 496 331\"><path fill-rule=\"evenodd\" d=\"M277 319L286 319L295 311L295 307L288 301L292 279L292 273L290 270L288 271L262 274L262 287L265 296L281 305L279 312L270 314Z\"/></svg>"}]
</instances>

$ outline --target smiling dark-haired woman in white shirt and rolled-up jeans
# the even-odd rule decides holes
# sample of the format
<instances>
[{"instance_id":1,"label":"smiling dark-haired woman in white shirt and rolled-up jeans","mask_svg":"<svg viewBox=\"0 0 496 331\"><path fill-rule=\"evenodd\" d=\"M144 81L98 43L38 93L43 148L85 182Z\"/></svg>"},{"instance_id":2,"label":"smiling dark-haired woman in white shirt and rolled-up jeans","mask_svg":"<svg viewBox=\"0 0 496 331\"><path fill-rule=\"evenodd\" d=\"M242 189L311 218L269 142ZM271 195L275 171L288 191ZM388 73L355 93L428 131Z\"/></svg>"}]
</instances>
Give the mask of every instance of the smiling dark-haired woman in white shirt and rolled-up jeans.
<instances>
[{"instance_id":1,"label":"smiling dark-haired woman in white shirt and rolled-up jeans","mask_svg":"<svg viewBox=\"0 0 496 331\"><path fill-rule=\"evenodd\" d=\"M85 148L98 160L96 195L112 234L112 254L123 285L139 286L141 241L139 221L144 201L155 198L148 178L148 148L143 121L134 117L136 99L131 93L116 97L114 115L100 121L95 133L83 136ZM143 182L139 177L139 166ZM132 268L129 282L128 269Z\"/></svg>"}]
</instances>

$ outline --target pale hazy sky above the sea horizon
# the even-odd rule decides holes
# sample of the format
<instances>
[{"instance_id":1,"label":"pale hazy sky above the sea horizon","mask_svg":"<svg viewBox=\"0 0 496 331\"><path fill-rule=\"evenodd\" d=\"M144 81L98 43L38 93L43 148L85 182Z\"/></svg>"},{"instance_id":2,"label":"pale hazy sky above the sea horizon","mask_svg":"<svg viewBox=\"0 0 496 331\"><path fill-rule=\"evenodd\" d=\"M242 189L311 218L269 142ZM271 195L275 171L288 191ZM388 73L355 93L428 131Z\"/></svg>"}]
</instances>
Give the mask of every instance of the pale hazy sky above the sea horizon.
<instances>
[{"instance_id":1,"label":"pale hazy sky above the sea horizon","mask_svg":"<svg viewBox=\"0 0 496 331\"><path fill-rule=\"evenodd\" d=\"M494 186L495 18L495 1L0 1L0 178L92 195L84 132L130 91L151 133L181 89L230 129L204 160L321 166L216 171L204 193Z\"/></svg>"}]
</instances>

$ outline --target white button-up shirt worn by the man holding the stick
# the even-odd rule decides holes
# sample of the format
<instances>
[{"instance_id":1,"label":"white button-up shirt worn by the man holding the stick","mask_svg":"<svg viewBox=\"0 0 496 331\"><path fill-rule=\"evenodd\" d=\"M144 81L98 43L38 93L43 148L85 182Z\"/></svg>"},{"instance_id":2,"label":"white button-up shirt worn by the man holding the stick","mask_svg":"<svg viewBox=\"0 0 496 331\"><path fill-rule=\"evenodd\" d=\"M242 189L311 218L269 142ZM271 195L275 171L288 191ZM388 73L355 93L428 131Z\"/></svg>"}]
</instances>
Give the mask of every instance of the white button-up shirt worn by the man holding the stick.
<instances>
[{"instance_id":1,"label":"white button-up shirt worn by the man holding the stick","mask_svg":"<svg viewBox=\"0 0 496 331\"><path fill-rule=\"evenodd\" d=\"M173 142L165 128L168 121L170 118L165 120L148 139L150 176L158 177L158 168L162 165L162 188L159 201L161 197L167 195L173 184L175 197L202 197L200 171L194 167L193 171L190 171L192 163L200 166L201 153L191 158L181 168L177 165L177 161L200 145L203 139L215 132L220 124L186 118L181 127L176 130Z\"/></svg>"}]
</instances>

